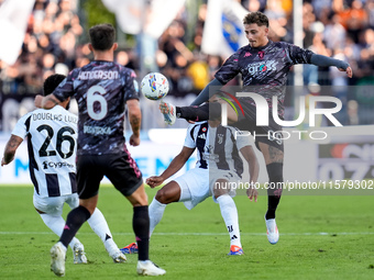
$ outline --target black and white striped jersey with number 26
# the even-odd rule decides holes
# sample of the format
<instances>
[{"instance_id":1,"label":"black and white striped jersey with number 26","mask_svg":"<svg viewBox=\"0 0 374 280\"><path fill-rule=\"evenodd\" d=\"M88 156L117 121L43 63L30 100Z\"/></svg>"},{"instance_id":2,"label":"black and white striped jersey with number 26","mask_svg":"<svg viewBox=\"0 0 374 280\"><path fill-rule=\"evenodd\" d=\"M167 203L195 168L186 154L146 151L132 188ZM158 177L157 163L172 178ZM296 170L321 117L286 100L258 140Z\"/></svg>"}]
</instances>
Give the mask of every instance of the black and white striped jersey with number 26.
<instances>
[{"instance_id":1,"label":"black and white striped jersey with number 26","mask_svg":"<svg viewBox=\"0 0 374 280\"><path fill-rule=\"evenodd\" d=\"M77 115L56 105L23 115L12 132L28 137L30 177L42 198L77 192Z\"/></svg>"}]
</instances>

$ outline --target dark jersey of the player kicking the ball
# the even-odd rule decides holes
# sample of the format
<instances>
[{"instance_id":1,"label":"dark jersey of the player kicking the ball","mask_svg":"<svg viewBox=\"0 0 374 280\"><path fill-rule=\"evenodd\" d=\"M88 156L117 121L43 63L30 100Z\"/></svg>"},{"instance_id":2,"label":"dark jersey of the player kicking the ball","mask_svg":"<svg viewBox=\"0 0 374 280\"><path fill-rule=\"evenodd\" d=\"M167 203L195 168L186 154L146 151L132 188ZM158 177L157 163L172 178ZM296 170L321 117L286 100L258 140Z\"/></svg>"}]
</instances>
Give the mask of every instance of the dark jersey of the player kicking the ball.
<instances>
[{"instance_id":1,"label":"dark jersey of the player kicking the ball","mask_svg":"<svg viewBox=\"0 0 374 280\"><path fill-rule=\"evenodd\" d=\"M263 96L270 107L273 96L276 96L278 114L283 116L289 69L295 64L310 64L312 54L311 51L285 42L268 41L266 46L258 48L246 45L226 60L216 72L216 79L227 83L241 74L243 91ZM242 99L254 104L250 98Z\"/></svg>"}]
</instances>

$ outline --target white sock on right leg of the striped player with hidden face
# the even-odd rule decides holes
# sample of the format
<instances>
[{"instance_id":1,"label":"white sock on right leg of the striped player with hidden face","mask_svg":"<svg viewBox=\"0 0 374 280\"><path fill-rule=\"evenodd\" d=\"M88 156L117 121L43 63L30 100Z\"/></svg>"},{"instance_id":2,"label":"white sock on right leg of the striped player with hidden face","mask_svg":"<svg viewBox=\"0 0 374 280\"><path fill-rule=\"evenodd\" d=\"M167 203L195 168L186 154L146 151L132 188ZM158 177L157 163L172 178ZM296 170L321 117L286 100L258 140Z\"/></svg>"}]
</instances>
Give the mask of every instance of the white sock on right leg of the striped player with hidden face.
<instances>
[{"instance_id":1,"label":"white sock on right leg of the striped player with hidden face","mask_svg":"<svg viewBox=\"0 0 374 280\"><path fill-rule=\"evenodd\" d=\"M217 198L221 215L230 234L230 245L242 247L240 242L239 219L235 202L229 194Z\"/></svg>"}]
</instances>

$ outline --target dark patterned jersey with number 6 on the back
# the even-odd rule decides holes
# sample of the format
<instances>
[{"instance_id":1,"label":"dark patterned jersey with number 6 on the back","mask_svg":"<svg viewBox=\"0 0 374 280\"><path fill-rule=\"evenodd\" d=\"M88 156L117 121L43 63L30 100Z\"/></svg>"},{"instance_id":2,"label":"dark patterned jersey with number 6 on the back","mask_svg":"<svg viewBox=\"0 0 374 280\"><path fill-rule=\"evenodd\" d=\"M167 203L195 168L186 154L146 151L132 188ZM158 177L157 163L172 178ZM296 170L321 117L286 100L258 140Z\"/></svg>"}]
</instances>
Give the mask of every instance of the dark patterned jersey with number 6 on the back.
<instances>
[{"instance_id":1,"label":"dark patterned jersey with number 6 on the back","mask_svg":"<svg viewBox=\"0 0 374 280\"><path fill-rule=\"evenodd\" d=\"M125 149L127 100L139 99L135 72L113 61L95 60L74 69L53 94L75 96L79 108L78 155L117 154Z\"/></svg>"}]
</instances>

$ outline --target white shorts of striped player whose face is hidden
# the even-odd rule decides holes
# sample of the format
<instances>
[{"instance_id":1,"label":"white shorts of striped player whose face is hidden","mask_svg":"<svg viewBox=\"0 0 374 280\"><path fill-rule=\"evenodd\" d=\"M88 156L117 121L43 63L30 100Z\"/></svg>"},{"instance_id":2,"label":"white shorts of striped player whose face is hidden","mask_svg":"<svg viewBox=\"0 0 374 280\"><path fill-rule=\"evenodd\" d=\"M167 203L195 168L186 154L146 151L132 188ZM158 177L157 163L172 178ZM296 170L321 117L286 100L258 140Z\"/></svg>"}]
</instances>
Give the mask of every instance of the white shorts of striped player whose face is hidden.
<instances>
[{"instance_id":1,"label":"white shorts of striped player whose face is hidden","mask_svg":"<svg viewBox=\"0 0 374 280\"><path fill-rule=\"evenodd\" d=\"M186 173L174 179L180 188L180 199L188 210L191 210L200 202L205 201L208 197L212 195L215 182L218 179L228 181L239 180L238 175L226 170L211 171L209 169L194 168ZM231 189L228 191L229 195L234 197L235 191ZM213 197L213 201L217 202Z\"/></svg>"}]
</instances>

